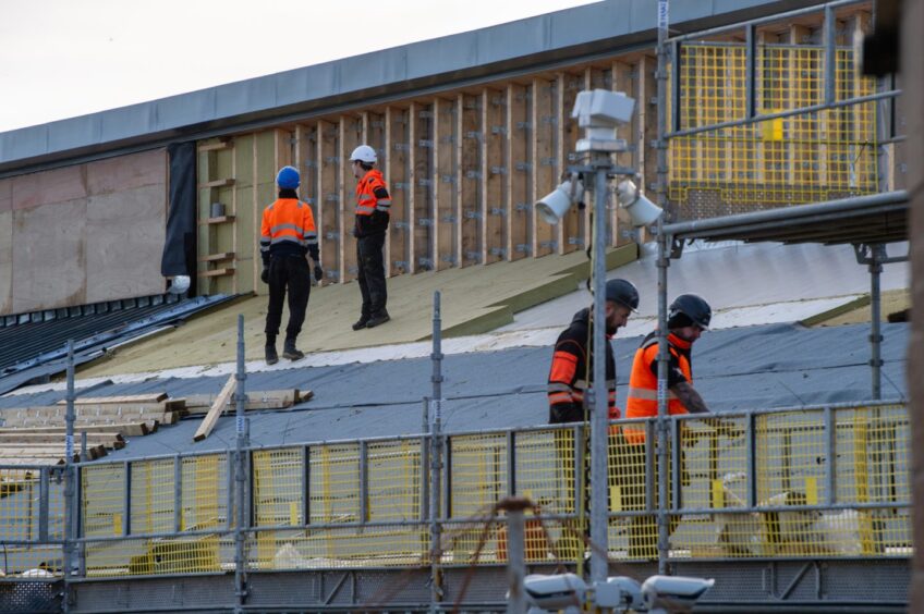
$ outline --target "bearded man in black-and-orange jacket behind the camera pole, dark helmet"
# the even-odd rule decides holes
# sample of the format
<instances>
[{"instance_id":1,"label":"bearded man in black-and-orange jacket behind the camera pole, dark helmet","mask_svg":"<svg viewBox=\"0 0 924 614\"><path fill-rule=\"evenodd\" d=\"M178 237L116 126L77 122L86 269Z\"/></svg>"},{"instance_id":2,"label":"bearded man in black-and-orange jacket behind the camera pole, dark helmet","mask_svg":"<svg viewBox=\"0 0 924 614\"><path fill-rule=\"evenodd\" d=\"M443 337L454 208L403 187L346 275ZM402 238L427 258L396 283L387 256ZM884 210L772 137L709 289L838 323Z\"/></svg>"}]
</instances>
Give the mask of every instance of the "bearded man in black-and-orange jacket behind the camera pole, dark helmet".
<instances>
[{"instance_id":1,"label":"bearded man in black-and-orange jacket behind the camera pole, dark helmet","mask_svg":"<svg viewBox=\"0 0 924 614\"><path fill-rule=\"evenodd\" d=\"M606 284L606 390L607 390L607 415L613 420L620 417L619 408L616 406L616 361L613 359L610 340L617 330L624 327L629 316L639 308L639 291L627 280L609 280ZM588 382L592 382L593 367L593 326L591 309L585 308L576 314L571 324L558 336L551 359L551 368L548 376L548 400L549 422L559 425L564 422L584 422L589 419L591 407L585 404L584 392ZM596 388L596 382L594 388ZM612 439L613 431L610 432ZM589 454L586 454L587 442L575 442L572 431L557 430L555 432L556 451L560 461L559 484L564 494L563 501L581 501L584 512L588 511L589 498ZM579 447L580 446L580 447ZM575 496L574 470L578 450L584 450L584 467L582 470L582 489L584 496ZM610 476L613 475L612 457L609 457ZM566 506L567 508L567 506ZM576 509L571 509L578 512ZM576 525L569 525L570 529L564 536L561 544L561 554L569 558L580 556L584 552L583 536L586 525L583 518Z\"/></svg>"}]
</instances>

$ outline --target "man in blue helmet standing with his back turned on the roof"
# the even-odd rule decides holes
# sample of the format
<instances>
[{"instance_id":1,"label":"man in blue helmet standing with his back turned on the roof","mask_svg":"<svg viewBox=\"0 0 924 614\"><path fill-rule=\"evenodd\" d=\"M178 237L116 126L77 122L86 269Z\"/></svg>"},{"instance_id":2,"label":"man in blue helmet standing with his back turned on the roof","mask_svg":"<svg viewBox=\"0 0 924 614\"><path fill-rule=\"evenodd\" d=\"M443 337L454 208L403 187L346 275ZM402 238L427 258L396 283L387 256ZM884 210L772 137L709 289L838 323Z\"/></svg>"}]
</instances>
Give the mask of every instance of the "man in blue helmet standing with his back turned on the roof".
<instances>
[{"instance_id":1,"label":"man in blue helmet standing with his back turned on the roof","mask_svg":"<svg viewBox=\"0 0 924 614\"><path fill-rule=\"evenodd\" d=\"M279 198L263 212L260 225L260 279L269 284L269 306L266 310L266 364L279 361L276 353L276 336L282 320L282 302L289 293L289 324L285 327L285 343L282 356L290 360L304 358L295 347L295 339L302 331L308 295L312 290L311 271L305 256L314 260L315 281L324 278L318 256L317 228L312 208L299 200L295 192L301 177L297 169L282 167L276 175Z\"/></svg>"}]
</instances>

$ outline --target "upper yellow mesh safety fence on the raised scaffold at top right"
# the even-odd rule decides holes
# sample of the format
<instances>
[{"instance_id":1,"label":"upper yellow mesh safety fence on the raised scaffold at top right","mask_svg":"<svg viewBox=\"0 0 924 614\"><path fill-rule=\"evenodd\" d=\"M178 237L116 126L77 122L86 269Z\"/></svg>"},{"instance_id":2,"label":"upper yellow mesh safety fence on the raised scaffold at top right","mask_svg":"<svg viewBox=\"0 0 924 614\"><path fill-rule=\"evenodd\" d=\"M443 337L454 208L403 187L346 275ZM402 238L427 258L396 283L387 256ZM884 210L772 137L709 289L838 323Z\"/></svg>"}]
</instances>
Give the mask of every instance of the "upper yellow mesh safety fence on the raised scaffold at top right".
<instances>
[{"instance_id":1,"label":"upper yellow mesh safety fence on the raised scaffold at top right","mask_svg":"<svg viewBox=\"0 0 924 614\"><path fill-rule=\"evenodd\" d=\"M825 103L825 48L755 45L756 115ZM856 74L852 48L835 50L834 102L876 93ZM672 72L683 131L746 116L746 46L693 42L680 47ZM673 78L673 75L671 75ZM858 102L670 138L669 198L683 219L752 208L875 194L877 103ZM672 112L673 110L670 110Z\"/></svg>"}]
</instances>

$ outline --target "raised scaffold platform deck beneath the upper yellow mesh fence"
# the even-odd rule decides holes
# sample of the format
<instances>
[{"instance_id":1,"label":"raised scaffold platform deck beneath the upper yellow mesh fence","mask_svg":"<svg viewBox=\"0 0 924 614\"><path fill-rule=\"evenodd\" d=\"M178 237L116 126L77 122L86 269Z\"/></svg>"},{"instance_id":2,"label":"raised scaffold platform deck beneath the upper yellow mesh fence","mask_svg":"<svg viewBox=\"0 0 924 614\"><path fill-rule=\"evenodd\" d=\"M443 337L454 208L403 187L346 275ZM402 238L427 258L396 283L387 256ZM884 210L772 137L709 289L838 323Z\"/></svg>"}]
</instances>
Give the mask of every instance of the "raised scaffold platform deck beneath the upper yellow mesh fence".
<instances>
[{"instance_id":1,"label":"raised scaffold platform deck beneath the upper yellow mesh fence","mask_svg":"<svg viewBox=\"0 0 924 614\"><path fill-rule=\"evenodd\" d=\"M908 193L855 196L664 225L674 241L893 243L908 241Z\"/></svg>"}]
</instances>

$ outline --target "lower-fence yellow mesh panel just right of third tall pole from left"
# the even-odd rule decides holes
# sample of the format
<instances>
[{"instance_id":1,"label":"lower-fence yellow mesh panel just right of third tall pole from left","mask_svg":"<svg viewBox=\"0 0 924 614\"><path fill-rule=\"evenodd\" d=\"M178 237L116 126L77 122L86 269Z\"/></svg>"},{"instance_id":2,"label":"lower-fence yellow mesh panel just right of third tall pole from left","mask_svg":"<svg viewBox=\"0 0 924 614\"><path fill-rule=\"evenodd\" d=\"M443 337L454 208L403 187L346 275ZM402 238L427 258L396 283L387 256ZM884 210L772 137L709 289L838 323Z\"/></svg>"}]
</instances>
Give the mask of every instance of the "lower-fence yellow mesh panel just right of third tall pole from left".
<instances>
[{"instance_id":1,"label":"lower-fence yellow mesh panel just right of third tall pole from left","mask_svg":"<svg viewBox=\"0 0 924 614\"><path fill-rule=\"evenodd\" d=\"M506 433L453 437L450 454L450 517L485 514L507 496Z\"/></svg>"}]
</instances>

